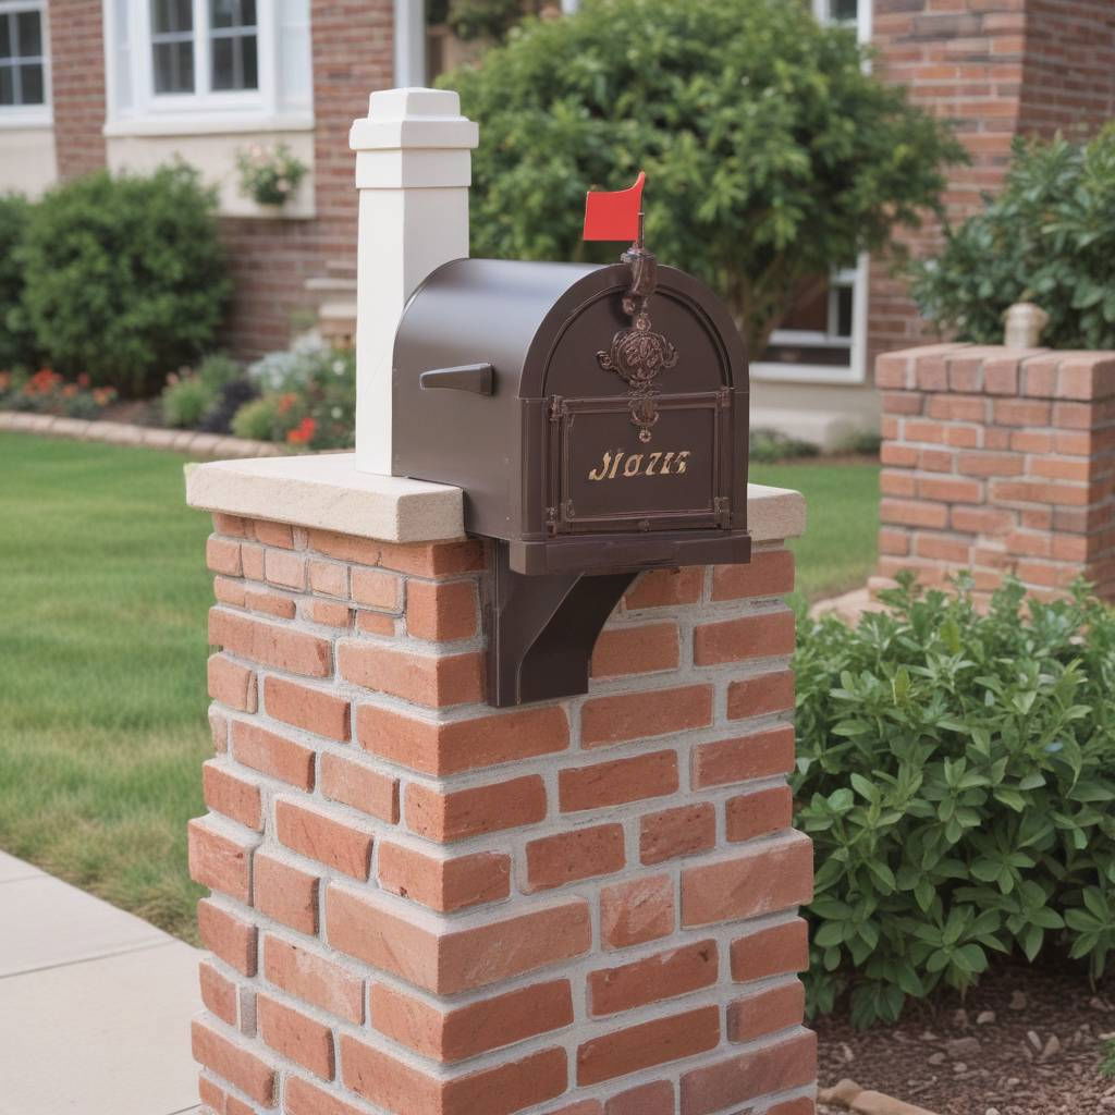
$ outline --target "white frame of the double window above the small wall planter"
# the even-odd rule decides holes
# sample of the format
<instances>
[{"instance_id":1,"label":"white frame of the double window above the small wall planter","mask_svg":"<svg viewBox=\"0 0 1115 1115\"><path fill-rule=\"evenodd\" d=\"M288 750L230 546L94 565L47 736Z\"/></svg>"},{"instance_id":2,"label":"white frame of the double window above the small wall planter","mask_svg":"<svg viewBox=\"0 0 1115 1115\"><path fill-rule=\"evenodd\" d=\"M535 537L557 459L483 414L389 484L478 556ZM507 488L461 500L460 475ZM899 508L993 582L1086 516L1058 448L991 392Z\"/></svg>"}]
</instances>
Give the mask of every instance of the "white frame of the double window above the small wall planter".
<instances>
[{"instance_id":1,"label":"white frame of the double window above the small wall planter","mask_svg":"<svg viewBox=\"0 0 1115 1115\"><path fill-rule=\"evenodd\" d=\"M105 135L174 135L224 132L298 132L313 127L312 109L291 112L281 104L279 70L281 43L278 0L256 0L256 71L259 88L210 88L210 0L193 0L194 93L155 93L151 0L127 0L128 72L117 72L115 3L104 0L105 67L108 112ZM312 65L312 62L309 62ZM119 104L120 78L130 89L130 104Z\"/></svg>"}]
</instances>

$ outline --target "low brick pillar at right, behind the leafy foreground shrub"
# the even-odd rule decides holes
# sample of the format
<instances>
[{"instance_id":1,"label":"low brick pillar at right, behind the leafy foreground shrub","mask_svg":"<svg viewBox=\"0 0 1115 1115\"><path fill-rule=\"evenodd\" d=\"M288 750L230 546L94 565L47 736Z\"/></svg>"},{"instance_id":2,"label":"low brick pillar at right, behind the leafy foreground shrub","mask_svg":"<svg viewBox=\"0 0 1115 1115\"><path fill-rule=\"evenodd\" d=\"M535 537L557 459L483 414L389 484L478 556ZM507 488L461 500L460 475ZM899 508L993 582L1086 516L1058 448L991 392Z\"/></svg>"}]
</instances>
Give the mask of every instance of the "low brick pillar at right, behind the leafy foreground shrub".
<instances>
[{"instance_id":1,"label":"low brick pillar at right, behind the leafy foreground shrub","mask_svg":"<svg viewBox=\"0 0 1115 1115\"><path fill-rule=\"evenodd\" d=\"M1115 599L1115 352L935 345L881 357L879 571L971 570Z\"/></svg>"}]
</instances>

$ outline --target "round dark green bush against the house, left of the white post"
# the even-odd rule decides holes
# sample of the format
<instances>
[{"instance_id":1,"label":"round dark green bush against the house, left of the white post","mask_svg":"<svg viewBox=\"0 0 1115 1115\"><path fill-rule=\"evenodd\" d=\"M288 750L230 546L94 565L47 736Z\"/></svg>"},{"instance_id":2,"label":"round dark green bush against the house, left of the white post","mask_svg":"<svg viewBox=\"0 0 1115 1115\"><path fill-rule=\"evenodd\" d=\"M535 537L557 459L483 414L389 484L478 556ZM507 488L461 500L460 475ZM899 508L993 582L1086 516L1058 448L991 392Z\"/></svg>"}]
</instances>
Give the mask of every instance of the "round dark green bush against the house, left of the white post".
<instances>
[{"instance_id":1,"label":"round dark green bush against the house, left of the white post","mask_svg":"<svg viewBox=\"0 0 1115 1115\"><path fill-rule=\"evenodd\" d=\"M146 395L212 345L230 291L215 204L176 165L90 174L33 206L23 302L58 370Z\"/></svg>"}]
</instances>

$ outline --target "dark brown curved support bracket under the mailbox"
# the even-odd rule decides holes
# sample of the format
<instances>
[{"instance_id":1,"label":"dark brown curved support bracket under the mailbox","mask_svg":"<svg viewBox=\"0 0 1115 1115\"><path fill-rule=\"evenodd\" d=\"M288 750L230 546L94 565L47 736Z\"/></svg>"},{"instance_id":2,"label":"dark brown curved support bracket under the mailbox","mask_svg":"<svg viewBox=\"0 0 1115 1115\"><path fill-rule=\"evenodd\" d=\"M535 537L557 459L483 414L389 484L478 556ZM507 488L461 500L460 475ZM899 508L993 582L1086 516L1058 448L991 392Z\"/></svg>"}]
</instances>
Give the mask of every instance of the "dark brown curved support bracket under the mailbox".
<instances>
[{"instance_id":1,"label":"dark brown curved support bracket under the mailbox","mask_svg":"<svg viewBox=\"0 0 1115 1115\"><path fill-rule=\"evenodd\" d=\"M516 573L494 539L486 579L487 698L497 708L589 691L597 637L636 572Z\"/></svg>"}]
</instances>

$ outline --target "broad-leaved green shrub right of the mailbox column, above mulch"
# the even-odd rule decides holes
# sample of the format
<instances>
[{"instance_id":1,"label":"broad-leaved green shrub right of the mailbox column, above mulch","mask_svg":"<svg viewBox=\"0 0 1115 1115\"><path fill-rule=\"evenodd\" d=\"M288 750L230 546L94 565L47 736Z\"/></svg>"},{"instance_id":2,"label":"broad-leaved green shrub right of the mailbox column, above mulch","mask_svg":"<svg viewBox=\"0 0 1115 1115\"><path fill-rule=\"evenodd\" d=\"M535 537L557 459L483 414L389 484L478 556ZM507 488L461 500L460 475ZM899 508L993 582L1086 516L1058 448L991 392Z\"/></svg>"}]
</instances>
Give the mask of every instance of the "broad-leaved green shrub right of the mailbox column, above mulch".
<instances>
[{"instance_id":1,"label":"broad-leaved green shrub right of the mailbox column, above mulch","mask_svg":"<svg viewBox=\"0 0 1115 1115\"><path fill-rule=\"evenodd\" d=\"M993 953L1064 950L1098 979L1115 951L1115 612L1010 583L981 615L957 588L905 579L855 629L801 620L811 1002L850 990L859 1025Z\"/></svg>"}]
</instances>

